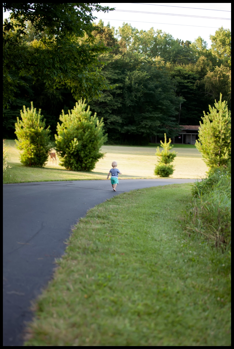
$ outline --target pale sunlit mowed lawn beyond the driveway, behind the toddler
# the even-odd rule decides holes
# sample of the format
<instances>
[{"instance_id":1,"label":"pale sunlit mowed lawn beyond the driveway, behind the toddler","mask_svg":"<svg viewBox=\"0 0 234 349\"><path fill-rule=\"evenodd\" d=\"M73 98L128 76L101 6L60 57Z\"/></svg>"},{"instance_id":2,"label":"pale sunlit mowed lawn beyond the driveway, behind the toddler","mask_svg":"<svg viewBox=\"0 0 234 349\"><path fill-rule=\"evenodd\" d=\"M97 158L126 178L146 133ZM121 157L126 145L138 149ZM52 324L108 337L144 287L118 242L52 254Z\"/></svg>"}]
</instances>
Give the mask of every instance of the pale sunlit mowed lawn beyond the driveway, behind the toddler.
<instances>
[{"instance_id":1,"label":"pale sunlit mowed lawn beyond the driveway, behind the toddler","mask_svg":"<svg viewBox=\"0 0 234 349\"><path fill-rule=\"evenodd\" d=\"M20 162L20 151L16 149L14 140L6 140L9 154L9 164L12 169L5 183L23 183L37 181L62 181L62 180L87 180L106 179L111 168L112 161L117 161L119 170L123 173L119 178L157 178L154 175L157 157L156 145L149 147L130 146L103 146L101 151L105 153L91 172L68 171L59 165L59 156L56 155L57 164L48 162L44 168L28 168ZM202 160L202 155L192 145L184 144L177 151L174 160L175 171L171 178L204 178L208 170ZM54 150L55 151L55 150Z\"/></svg>"}]
</instances>

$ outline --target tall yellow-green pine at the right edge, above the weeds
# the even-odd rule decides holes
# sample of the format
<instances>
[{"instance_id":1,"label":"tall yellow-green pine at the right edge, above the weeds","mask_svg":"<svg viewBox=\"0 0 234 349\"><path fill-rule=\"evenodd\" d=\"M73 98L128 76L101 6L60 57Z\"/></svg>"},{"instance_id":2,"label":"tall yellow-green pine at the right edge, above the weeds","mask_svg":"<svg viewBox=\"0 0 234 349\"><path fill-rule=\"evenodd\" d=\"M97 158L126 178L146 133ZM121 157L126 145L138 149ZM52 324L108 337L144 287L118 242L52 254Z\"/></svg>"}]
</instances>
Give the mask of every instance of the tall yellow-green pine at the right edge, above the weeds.
<instances>
[{"instance_id":1,"label":"tall yellow-green pine at the right edge, above the weeds","mask_svg":"<svg viewBox=\"0 0 234 349\"><path fill-rule=\"evenodd\" d=\"M227 102L222 102L222 95L214 107L209 105L207 115L202 117L198 131L196 148L202 153L202 157L210 169L226 166L231 160L231 111Z\"/></svg>"}]
</instances>

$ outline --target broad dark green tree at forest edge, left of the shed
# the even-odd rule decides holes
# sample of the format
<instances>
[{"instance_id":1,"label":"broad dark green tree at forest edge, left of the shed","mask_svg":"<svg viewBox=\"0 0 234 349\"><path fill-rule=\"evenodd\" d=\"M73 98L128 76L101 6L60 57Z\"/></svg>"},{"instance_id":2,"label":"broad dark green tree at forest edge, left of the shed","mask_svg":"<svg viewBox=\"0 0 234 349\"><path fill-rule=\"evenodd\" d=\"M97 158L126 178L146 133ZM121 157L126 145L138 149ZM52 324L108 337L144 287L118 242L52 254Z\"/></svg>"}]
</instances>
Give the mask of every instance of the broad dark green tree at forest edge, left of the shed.
<instances>
[{"instance_id":1,"label":"broad dark green tree at forest edge, left of the shed","mask_svg":"<svg viewBox=\"0 0 234 349\"><path fill-rule=\"evenodd\" d=\"M164 63L158 68L155 61L130 52L109 54L106 60L102 74L117 86L90 106L103 117L108 142L148 144L151 135L173 136L179 126L174 119L179 98Z\"/></svg>"}]
</instances>

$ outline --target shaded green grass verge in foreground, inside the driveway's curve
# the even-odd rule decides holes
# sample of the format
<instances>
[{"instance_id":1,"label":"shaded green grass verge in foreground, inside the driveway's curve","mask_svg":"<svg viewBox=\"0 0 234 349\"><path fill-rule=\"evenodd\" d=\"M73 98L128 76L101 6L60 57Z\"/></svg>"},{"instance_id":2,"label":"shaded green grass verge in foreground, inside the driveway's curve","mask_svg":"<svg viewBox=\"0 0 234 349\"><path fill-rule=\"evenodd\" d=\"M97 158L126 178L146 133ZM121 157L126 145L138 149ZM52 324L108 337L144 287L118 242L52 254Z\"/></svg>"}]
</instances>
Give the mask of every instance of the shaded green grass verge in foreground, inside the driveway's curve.
<instances>
[{"instance_id":1,"label":"shaded green grass verge in foreground, inside the driveway's curve","mask_svg":"<svg viewBox=\"0 0 234 349\"><path fill-rule=\"evenodd\" d=\"M136 190L89 210L24 345L231 345L230 256L184 232L190 188Z\"/></svg>"}]
</instances>

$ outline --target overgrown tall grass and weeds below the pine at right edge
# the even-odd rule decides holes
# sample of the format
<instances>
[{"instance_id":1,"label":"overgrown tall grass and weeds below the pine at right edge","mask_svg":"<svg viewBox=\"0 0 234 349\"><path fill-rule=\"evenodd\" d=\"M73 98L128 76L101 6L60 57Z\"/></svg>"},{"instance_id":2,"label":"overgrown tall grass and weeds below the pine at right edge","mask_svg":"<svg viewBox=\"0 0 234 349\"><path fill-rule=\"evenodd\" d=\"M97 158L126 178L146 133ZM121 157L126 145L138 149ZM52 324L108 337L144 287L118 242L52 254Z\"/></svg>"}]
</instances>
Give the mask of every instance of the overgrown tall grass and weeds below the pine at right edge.
<instances>
[{"instance_id":1,"label":"overgrown tall grass and weeds below the pine at right edge","mask_svg":"<svg viewBox=\"0 0 234 349\"><path fill-rule=\"evenodd\" d=\"M193 185L192 194L187 229L211 240L215 246L231 246L231 173L214 169L208 178Z\"/></svg>"}]
</instances>

